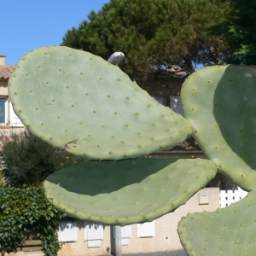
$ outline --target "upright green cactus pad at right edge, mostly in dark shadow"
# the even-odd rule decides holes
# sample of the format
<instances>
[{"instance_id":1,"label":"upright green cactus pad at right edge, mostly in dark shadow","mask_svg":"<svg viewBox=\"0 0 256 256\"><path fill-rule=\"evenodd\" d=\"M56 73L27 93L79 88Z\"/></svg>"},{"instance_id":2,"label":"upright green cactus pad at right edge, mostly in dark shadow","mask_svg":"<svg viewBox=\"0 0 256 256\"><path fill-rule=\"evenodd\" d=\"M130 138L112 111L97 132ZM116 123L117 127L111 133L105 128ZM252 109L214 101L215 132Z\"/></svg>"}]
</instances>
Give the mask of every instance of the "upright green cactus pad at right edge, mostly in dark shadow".
<instances>
[{"instance_id":1,"label":"upright green cactus pad at right edge, mostly in dark shadow","mask_svg":"<svg viewBox=\"0 0 256 256\"><path fill-rule=\"evenodd\" d=\"M256 185L256 67L206 67L181 92L193 135L219 172L247 191Z\"/></svg>"}]
</instances>

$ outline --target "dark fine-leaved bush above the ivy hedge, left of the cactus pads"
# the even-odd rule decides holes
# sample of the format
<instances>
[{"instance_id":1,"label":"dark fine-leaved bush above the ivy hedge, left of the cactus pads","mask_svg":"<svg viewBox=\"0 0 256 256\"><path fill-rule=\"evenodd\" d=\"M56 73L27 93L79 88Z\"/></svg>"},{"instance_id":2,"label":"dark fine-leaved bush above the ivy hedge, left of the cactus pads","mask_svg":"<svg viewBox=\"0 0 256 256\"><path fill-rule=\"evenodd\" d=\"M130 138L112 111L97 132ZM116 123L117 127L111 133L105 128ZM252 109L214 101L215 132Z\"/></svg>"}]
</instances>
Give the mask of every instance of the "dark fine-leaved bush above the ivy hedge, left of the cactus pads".
<instances>
[{"instance_id":1,"label":"dark fine-leaved bush above the ivy hedge, left of the cactus pads","mask_svg":"<svg viewBox=\"0 0 256 256\"><path fill-rule=\"evenodd\" d=\"M3 174L12 187L41 183L52 172L71 166L83 158L54 148L31 133L1 135Z\"/></svg>"}]
</instances>

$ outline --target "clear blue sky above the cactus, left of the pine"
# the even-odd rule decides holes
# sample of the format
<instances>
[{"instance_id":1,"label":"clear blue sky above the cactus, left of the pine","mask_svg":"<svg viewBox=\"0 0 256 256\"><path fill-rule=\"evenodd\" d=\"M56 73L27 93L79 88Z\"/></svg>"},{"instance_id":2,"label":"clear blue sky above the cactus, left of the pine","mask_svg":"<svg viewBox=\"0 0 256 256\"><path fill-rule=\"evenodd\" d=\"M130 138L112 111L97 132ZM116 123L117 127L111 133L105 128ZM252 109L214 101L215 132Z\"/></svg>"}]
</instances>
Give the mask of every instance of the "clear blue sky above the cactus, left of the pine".
<instances>
[{"instance_id":1,"label":"clear blue sky above the cactus, left of the pine","mask_svg":"<svg viewBox=\"0 0 256 256\"><path fill-rule=\"evenodd\" d=\"M68 29L109 0L0 0L0 55L15 65L32 49L59 45Z\"/></svg>"}]
</instances>

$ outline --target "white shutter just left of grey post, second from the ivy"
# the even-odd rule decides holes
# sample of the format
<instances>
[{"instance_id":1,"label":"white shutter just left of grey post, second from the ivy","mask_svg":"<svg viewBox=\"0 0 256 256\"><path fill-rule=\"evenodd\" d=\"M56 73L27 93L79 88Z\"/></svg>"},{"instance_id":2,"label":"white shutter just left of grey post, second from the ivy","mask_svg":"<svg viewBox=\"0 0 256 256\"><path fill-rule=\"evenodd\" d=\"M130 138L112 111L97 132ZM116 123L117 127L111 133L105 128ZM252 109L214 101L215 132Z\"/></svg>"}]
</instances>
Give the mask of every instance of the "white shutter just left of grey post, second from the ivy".
<instances>
[{"instance_id":1,"label":"white shutter just left of grey post, second from the ivy","mask_svg":"<svg viewBox=\"0 0 256 256\"><path fill-rule=\"evenodd\" d=\"M101 241L104 239L104 228L102 224L93 224L84 221L84 241L87 241L87 247L101 247Z\"/></svg>"}]
</instances>

